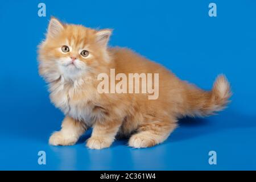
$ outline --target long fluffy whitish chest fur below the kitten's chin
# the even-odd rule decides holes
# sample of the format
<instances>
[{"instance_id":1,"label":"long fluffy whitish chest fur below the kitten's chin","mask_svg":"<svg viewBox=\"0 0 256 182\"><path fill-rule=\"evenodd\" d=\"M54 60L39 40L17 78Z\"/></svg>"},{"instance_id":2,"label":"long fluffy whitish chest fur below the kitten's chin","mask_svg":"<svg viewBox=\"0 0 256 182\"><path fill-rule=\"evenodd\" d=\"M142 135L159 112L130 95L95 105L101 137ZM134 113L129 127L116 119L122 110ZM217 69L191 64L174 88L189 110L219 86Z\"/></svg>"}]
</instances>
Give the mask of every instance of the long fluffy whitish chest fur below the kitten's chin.
<instances>
[{"instance_id":1,"label":"long fluffy whitish chest fur below the kitten's chin","mask_svg":"<svg viewBox=\"0 0 256 182\"><path fill-rule=\"evenodd\" d=\"M92 125L94 104L97 90L85 83L84 80L66 82L60 79L49 85L50 98L53 104L61 109L65 115Z\"/></svg>"}]
</instances>

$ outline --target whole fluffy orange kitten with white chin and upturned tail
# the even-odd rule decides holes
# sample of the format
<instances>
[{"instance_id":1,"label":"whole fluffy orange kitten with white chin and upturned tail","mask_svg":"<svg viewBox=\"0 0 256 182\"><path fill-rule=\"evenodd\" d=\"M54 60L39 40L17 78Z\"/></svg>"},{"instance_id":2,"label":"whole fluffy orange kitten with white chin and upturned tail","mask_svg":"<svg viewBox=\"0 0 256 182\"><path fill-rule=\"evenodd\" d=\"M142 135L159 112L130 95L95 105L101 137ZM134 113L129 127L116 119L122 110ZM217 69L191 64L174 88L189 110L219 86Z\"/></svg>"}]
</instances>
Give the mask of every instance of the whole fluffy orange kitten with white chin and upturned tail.
<instances>
[{"instance_id":1,"label":"whole fluffy orange kitten with white chin and upturned tail","mask_svg":"<svg viewBox=\"0 0 256 182\"><path fill-rule=\"evenodd\" d=\"M228 104L231 93L225 76L217 77L211 91L201 90L129 49L109 48L111 34L108 29L98 31L51 18L46 40L39 45L39 73L49 84L51 102L65 118L49 144L75 144L93 127L86 141L89 148L109 147L117 135L130 137L131 147L150 147L168 138L177 118L207 116ZM99 93L98 75L110 76L110 69L125 75L158 73L159 97Z\"/></svg>"}]
</instances>

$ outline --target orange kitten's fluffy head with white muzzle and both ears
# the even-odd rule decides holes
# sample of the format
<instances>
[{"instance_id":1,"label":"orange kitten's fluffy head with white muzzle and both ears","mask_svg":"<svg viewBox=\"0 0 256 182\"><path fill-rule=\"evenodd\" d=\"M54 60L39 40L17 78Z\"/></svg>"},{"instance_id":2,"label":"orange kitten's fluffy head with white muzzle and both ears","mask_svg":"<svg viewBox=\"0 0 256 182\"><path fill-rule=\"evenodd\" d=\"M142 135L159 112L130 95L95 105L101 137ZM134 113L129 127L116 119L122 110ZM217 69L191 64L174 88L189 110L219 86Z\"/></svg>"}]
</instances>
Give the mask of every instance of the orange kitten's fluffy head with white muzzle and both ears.
<instances>
[{"instance_id":1,"label":"orange kitten's fluffy head with white muzzle and both ears","mask_svg":"<svg viewBox=\"0 0 256 182\"><path fill-rule=\"evenodd\" d=\"M63 24L51 18L46 40L39 45L39 73L47 81L76 79L108 64L111 30Z\"/></svg>"}]
</instances>

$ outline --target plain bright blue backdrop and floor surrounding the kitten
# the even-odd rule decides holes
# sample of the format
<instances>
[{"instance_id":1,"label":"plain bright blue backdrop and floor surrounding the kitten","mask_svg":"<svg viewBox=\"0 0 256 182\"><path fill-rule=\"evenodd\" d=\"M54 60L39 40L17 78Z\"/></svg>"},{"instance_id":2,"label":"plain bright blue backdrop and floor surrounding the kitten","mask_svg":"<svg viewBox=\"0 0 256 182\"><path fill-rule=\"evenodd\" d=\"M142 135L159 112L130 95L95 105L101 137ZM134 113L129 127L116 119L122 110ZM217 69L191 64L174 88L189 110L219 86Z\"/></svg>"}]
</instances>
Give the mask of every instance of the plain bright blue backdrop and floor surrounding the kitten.
<instances>
[{"instance_id":1,"label":"plain bright blue backdrop and floor surrounding the kitten","mask_svg":"<svg viewBox=\"0 0 256 182\"><path fill-rule=\"evenodd\" d=\"M256 169L256 2L241 1L40 1L0 4L0 169ZM217 17L208 5L217 4ZM171 69L177 76L210 89L225 73L233 97L228 109L208 118L181 119L159 146L127 147L118 140L105 150L48 145L63 114L49 101L38 75L36 46L51 15L68 23L113 28L110 45L129 47ZM46 151L46 165L38 151ZM217 152L209 165L208 152Z\"/></svg>"}]
</instances>

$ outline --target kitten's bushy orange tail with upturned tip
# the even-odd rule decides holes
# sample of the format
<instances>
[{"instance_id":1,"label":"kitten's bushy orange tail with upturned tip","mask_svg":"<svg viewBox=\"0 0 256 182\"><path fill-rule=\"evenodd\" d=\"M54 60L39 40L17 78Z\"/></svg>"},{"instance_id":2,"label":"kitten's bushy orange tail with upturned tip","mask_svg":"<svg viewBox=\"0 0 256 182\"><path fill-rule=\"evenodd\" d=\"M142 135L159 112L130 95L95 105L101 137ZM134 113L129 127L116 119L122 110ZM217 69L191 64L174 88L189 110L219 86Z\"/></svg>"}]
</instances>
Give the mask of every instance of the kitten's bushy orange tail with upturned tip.
<instances>
[{"instance_id":1,"label":"kitten's bushy orange tail with upturned tip","mask_svg":"<svg viewBox=\"0 0 256 182\"><path fill-rule=\"evenodd\" d=\"M232 93L230 84L224 75L219 75L210 91L201 90L193 85L187 85L185 115L207 116L226 107Z\"/></svg>"}]
</instances>

